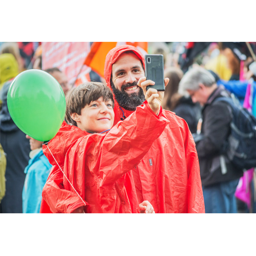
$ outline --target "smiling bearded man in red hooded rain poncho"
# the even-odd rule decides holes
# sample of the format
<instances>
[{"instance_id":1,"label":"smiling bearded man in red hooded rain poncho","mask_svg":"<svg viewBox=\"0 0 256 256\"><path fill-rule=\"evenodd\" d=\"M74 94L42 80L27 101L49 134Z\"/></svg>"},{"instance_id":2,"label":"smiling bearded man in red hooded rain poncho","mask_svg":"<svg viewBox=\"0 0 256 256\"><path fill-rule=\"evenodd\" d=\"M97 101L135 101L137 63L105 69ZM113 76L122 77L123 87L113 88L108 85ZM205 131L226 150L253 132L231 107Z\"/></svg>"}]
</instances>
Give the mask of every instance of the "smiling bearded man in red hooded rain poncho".
<instances>
[{"instance_id":1,"label":"smiling bearded man in red hooded rain poncho","mask_svg":"<svg viewBox=\"0 0 256 256\"><path fill-rule=\"evenodd\" d=\"M133 46L111 49L104 76L115 96L114 124L127 119L144 100L140 86L153 85L145 78L145 60ZM165 84L168 81L165 79ZM198 155L184 119L163 110L169 124L152 143L132 175L138 201L149 201L156 213L204 213ZM123 121L124 122L124 121Z\"/></svg>"}]
</instances>

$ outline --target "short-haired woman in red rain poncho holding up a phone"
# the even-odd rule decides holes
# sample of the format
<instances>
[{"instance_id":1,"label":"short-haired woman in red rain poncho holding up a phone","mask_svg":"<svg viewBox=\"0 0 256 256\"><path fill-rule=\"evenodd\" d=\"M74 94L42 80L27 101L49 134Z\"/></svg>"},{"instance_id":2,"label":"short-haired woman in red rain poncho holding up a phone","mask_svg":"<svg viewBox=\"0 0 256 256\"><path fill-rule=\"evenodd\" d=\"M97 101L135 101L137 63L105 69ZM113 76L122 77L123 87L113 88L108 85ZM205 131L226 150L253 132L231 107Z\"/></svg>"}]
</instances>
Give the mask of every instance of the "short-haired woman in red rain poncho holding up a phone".
<instances>
[{"instance_id":1,"label":"short-haired woman in red rain poncho holding up a phone","mask_svg":"<svg viewBox=\"0 0 256 256\"><path fill-rule=\"evenodd\" d=\"M104 84L90 82L66 95L66 119L43 145L53 165L40 212L154 212L139 205L132 173L169 121L162 115L163 92L146 91L143 105L113 128L114 100ZM62 172L62 171L64 172ZM48 208L47 208L48 207Z\"/></svg>"}]
</instances>

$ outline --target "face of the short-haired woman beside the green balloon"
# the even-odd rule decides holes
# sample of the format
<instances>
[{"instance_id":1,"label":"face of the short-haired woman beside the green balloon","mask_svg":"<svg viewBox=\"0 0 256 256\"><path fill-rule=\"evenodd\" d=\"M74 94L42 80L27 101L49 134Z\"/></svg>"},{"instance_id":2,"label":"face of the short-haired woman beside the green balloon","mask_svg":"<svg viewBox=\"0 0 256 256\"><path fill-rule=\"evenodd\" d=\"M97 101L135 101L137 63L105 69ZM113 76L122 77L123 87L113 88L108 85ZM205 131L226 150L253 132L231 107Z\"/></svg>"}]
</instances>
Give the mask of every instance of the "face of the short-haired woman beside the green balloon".
<instances>
[{"instance_id":1,"label":"face of the short-haired woman beside the green balloon","mask_svg":"<svg viewBox=\"0 0 256 256\"><path fill-rule=\"evenodd\" d=\"M71 115L78 128L91 133L100 133L112 128L114 122L113 103L100 97L81 109L81 115Z\"/></svg>"}]
</instances>

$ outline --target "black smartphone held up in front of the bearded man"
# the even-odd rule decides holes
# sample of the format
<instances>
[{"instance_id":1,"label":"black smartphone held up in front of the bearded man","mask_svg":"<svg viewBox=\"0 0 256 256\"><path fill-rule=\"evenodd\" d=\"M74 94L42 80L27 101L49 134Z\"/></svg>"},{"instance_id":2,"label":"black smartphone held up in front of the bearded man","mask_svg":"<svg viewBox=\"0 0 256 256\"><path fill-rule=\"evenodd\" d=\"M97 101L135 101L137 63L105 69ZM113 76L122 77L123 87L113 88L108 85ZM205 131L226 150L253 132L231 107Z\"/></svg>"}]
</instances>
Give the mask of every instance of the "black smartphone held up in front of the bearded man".
<instances>
[{"instance_id":1,"label":"black smartphone held up in front of the bearded man","mask_svg":"<svg viewBox=\"0 0 256 256\"><path fill-rule=\"evenodd\" d=\"M154 85L149 85L149 88L155 88L158 91L164 91L164 69L163 69L163 55L162 54L146 54L145 55L145 72L147 80L155 82Z\"/></svg>"}]
</instances>

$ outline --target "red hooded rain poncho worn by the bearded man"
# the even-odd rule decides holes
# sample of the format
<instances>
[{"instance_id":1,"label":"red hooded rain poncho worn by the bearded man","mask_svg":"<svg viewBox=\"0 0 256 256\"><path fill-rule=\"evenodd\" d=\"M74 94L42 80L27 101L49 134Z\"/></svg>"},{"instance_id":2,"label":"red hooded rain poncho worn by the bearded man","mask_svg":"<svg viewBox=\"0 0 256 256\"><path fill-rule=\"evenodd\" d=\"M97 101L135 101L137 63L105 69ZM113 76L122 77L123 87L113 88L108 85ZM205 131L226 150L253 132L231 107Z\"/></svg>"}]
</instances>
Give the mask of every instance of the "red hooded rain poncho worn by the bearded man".
<instances>
[{"instance_id":1,"label":"red hooded rain poncho worn by the bearded man","mask_svg":"<svg viewBox=\"0 0 256 256\"><path fill-rule=\"evenodd\" d=\"M129 50L143 61L145 68L144 56L137 48L128 45L113 48L105 61L108 87L111 88L112 64ZM116 101L114 112L114 124L121 120L123 113L126 117L133 113L120 108ZM171 111L163 110L163 113L169 124L132 170L138 200L148 200L156 213L204 213L198 155L192 134L184 119Z\"/></svg>"}]
</instances>

